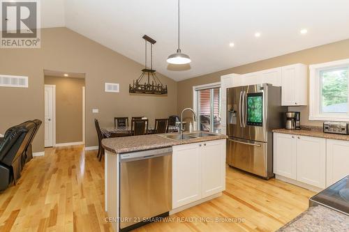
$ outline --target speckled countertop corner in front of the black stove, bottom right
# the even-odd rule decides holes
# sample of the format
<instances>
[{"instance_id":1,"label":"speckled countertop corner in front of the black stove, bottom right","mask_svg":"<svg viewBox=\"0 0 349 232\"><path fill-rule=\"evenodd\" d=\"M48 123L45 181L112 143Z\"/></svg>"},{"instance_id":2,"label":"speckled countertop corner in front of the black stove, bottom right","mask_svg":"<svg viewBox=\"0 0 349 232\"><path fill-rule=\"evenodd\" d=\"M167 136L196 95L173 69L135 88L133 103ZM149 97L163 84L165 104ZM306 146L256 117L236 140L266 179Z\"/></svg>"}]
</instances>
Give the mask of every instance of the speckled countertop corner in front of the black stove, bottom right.
<instances>
[{"instance_id":1,"label":"speckled countertop corner in front of the black stove, bottom right","mask_svg":"<svg viewBox=\"0 0 349 232\"><path fill-rule=\"evenodd\" d=\"M324 206L315 206L304 211L278 231L349 231L349 216Z\"/></svg>"}]
</instances>

